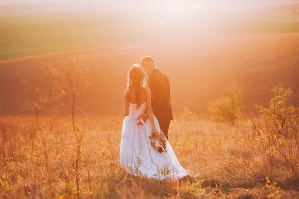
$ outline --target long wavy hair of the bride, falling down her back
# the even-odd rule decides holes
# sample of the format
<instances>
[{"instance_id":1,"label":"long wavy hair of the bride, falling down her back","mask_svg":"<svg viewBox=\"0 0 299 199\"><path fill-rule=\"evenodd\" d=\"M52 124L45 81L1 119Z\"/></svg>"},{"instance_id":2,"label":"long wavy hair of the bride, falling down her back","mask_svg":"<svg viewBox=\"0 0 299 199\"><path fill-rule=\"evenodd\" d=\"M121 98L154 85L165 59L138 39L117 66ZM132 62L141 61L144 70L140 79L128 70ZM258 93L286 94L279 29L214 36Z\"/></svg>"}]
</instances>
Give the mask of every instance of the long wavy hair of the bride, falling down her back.
<instances>
[{"instance_id":1,"label":"long wavy hair of the bride, falling down her back","mask_svg":"<svg viewBox=\"0 0 299 199\"><path fill-rule=\"evenodd\" d=\"M141 106L141 95L146 86L146 75L144 70L139 67L139 64L134 64L128 72L127 89L129 92L134 92L137 108Z\"/></svg>"}]
</instances>

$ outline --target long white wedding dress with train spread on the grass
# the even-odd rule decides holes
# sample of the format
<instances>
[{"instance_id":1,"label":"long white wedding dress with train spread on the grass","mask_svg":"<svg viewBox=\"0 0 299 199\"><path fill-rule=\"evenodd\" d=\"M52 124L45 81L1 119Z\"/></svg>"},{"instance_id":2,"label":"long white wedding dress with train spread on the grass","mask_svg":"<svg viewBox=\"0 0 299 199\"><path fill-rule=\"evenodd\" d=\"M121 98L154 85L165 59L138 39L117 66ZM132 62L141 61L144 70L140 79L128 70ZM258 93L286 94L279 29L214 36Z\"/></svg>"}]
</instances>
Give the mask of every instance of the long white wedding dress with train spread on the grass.
<instances>
[{"instance_id":1,"label":"long white wedding dress with train spread on the grass","mask_svg":"<svg viewBox=\"0 0 299 199\"><path fill-rule=\"evenodd\" d=\"M137 109L136 104L130 103L131 113L123 122L122 140L120 146L121 166L135 176L158 180L179 180L189 175L189 170L180 166L169 142L166 140L165 153L152 149L149 136L151 125L149 119L144 125L138 125L137 118L146 111L146 103ZM159 123L154 117L156 129L160 131ZM165 138L166 139L166 138Z\"/></svg>"}]
</instances>

